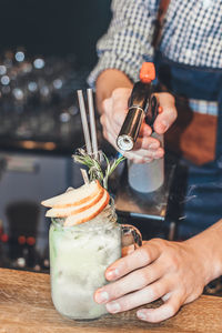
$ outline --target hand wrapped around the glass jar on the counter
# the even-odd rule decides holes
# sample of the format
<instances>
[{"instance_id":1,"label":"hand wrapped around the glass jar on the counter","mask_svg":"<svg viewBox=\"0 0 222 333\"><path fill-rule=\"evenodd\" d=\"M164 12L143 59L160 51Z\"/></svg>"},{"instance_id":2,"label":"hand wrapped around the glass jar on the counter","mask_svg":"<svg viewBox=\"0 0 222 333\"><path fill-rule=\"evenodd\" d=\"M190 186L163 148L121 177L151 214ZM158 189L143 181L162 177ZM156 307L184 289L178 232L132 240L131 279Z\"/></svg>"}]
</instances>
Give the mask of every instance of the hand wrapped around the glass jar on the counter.
<instances>
[{"instance_id":1,"label":"hand wrapped around the glass jar on the counter","mask_svg":"<svg viewBox=\"0 0 222 333\"><path fill-rule=\"evenodd\" d=\"M182 304L195 300L212 279L212 262L200 249L202 241L198 242L195 238L185 242L145 242L108 268L105 278L111 283L95 292L95 302L118 313L161 297L164 303L160 307L141 309L138 317L157 323L173 316Z\"/></svg>"}]
</instances>

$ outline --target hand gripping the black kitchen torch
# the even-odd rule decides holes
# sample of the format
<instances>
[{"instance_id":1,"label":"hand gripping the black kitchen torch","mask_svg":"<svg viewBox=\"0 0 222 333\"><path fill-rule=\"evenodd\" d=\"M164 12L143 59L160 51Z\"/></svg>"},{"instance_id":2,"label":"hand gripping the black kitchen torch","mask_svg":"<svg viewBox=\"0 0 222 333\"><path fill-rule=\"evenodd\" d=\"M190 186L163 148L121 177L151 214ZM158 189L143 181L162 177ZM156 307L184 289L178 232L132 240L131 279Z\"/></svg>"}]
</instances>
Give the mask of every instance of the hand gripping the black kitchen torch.
<instances>
[{"instance_id":1,"label":"hand gripping the black kitchen torch","mask_svg":"<svg viewBox=\"0 0 222 333\"><path fill-rule=\"evenodd\" d=\"M130 88L117 88L112 91L111 97L101 102L103 135L118 151L120 150L115 141L128 112L130 94ZM157 93L157 97L162 107L162 112L154 122L154 130L157 133L163 134L176 119L176 109L174 98L170 93ZM151 133L151 128L144 122L134 149L130 152L120 152L134 163L145 163L162 158L164 150L157 139L150 137Z\"/></svg>"}]
</instances>

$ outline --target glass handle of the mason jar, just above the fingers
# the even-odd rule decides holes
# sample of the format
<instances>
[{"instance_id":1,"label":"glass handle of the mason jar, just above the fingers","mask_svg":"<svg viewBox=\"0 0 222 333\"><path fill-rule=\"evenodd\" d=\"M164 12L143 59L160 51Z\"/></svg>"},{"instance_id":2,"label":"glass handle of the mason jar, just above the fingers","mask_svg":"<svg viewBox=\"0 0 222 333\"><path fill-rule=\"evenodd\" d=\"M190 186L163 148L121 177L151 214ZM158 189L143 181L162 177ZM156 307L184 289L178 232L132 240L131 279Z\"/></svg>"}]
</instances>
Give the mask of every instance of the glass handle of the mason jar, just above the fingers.
<instances>
[{"instance_id":1,"label":"glass handle of the mason jar, just above the fingers","mask_svg":"<svg viewBox=\"0 0 222 333\"><path fill-rule=\"evenodd\" d=\"M142 245L141 232L131 224L121 224L122 228L122 256L130 254Z\"/></svg>"}]
</instances>

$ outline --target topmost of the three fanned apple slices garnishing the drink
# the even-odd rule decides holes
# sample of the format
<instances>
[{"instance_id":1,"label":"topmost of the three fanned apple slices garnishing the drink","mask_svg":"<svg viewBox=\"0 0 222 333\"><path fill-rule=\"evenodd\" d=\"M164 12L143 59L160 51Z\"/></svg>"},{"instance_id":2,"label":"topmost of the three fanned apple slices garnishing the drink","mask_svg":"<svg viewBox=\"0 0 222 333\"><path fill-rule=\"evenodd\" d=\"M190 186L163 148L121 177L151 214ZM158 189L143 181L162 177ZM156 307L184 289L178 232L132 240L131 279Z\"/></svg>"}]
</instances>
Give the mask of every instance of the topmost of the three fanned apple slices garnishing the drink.
<instances>
[{"instance_id":1,"label":"topmost of the three fanned apple slices garnishing the drink","mask_svg":"<svg viewBox=\"0 0 222 333\"><path fill-rule=\"evenodd\" d=\"M99 181L95 180L90 182L89 184L80 186L79 189L73 189L63 194L44 200L41 202L41 204L49 208L67 208L69 205L80 205L92 200L101 189L102 186L100 185Z\"/></svg>"}]
</instances>

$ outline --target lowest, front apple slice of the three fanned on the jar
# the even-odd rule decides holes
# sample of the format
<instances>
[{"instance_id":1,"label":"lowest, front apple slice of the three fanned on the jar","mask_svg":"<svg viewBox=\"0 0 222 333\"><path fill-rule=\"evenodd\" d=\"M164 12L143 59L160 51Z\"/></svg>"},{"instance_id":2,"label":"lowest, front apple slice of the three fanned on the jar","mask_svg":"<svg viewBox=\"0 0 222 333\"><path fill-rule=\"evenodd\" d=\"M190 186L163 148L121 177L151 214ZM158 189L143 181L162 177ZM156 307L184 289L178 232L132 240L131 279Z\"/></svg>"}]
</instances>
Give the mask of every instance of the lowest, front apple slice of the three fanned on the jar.
<instances>
[{"instance_id":1,"label":"lowest, front apple slice of the three fanned on the jar","mask_svg":"<svg viewBox=\"0 0 222 333\"><path fill-rule=\"evenodd\" d=\"M110 195L104 190L103 196L97 204L92 205L91 208L87 209L83 212L69 215L64 221L64 225L72 226L92 220L99 213L101 213L101 211L108 205L109 200L110 200Z\"/></svg>"}]
</instances>

